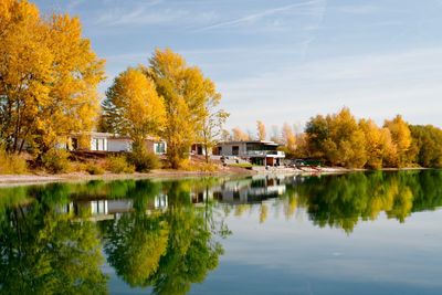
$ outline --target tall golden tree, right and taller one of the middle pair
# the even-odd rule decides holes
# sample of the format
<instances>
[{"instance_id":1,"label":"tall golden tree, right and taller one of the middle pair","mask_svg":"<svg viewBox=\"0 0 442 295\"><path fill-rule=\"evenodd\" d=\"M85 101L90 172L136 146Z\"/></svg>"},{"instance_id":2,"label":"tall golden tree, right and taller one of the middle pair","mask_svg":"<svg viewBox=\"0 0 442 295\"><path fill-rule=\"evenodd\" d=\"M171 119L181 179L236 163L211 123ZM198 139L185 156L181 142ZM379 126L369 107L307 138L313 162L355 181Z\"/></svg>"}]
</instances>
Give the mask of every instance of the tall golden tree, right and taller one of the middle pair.
<instances>
[{"instance_id":1,"label":"tall golden tree, right and taller one of the middle pair","mask_svg":"<svg viewBox=\"0 0 442 295\"><path fill-rule=\"evenodd\" d=\"M146 74L154 80L158 94L165 99L162 136L168 145L167 156L171 167L179 168L203 129L208 102L215 99L219 93L199 67L189 66L181 55L170 49L155 51Z\"/></svg>"}]
</instances>

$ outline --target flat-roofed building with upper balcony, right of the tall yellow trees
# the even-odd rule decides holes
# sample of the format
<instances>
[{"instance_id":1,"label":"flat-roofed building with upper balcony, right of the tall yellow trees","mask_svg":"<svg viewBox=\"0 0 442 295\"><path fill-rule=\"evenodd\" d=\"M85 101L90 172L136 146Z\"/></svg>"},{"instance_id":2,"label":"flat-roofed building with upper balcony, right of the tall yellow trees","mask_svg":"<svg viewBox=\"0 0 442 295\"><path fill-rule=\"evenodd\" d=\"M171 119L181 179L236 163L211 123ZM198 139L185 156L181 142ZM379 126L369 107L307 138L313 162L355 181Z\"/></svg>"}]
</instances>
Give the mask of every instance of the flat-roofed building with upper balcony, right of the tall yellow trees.
<instances>
[{"instance_id":1,"label":"flat-roofed building with upper balcony, right of the tall yellow trees","mask_svg":"<svg viewBox=\"0 0 442 295\"><path fill-rule=\"evenodd\" d=\"M278 146L267 140L222 141L214 147L213 155L239 157L255 165L280 166L285 154L277 150Z\"/></svg>"}]
</instances>

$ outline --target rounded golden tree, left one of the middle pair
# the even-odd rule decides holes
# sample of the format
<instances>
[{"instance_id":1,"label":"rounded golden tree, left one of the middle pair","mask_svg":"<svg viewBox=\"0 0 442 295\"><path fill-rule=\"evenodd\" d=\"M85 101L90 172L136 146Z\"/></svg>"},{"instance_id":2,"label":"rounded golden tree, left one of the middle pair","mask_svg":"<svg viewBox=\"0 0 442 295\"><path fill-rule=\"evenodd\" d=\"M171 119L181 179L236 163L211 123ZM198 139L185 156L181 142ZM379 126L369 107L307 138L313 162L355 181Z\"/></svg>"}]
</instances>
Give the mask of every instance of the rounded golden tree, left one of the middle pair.
<instances>
[{"instance_id":1,"label":"rounded golden tree, left one of the middle pair","mask_svg":"<svg viewBox=\"0 0 442 295\"><path fill-rule=\"evenodd\" d=\"M162 98L139 69L129 67L114 80L103 110L107 131L130 136L134 149L144 149L144 140L159 135L166 120Z\"/></svg>"}]
</instances>

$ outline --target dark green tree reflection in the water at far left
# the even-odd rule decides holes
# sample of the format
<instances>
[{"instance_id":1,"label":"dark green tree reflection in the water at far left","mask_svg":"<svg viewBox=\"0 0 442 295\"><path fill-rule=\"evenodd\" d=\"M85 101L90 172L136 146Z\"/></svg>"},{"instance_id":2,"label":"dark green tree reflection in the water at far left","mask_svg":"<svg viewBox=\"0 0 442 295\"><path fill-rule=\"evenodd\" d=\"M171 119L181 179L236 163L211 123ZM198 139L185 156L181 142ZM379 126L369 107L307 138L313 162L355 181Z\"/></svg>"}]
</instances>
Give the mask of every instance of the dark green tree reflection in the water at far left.
<instances>
[{"instance_id":1,"label":"dark green tree reflection in the water at far left","mask_svg":"<svg viewBox=\"0 0 442 295\"><path fill-rule=\"evenodd\" d=\"M57 213L57 206L65 201L64 188L22 191L15 198L35 200L28 206L11 200L14 207L0 210L1 293L107 293L96 225L69 222L69 215Z\"/></svg>"}]
</instances>

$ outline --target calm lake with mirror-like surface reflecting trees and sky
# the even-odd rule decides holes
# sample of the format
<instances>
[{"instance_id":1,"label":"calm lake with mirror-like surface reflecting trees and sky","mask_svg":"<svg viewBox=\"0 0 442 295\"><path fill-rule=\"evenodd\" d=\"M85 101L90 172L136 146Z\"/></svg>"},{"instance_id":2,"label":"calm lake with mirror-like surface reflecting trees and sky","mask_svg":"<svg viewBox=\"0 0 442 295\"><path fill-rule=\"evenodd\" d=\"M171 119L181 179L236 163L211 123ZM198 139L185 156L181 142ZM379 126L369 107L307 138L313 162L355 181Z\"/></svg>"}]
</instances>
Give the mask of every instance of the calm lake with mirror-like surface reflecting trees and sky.
<instances>
[{"instance_id":1,"label":"calm lake with mirror-like surface reflecting trees and sky","mask_svg":"<svg viewBox=\"0 0 442 295\"><path fill-rule=\"evenodd\" d=\"M442 294L442 171L0 188L0 294Z\"/></svg>"}]
</instances>

